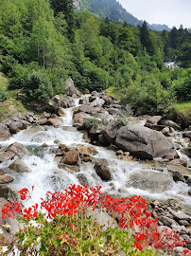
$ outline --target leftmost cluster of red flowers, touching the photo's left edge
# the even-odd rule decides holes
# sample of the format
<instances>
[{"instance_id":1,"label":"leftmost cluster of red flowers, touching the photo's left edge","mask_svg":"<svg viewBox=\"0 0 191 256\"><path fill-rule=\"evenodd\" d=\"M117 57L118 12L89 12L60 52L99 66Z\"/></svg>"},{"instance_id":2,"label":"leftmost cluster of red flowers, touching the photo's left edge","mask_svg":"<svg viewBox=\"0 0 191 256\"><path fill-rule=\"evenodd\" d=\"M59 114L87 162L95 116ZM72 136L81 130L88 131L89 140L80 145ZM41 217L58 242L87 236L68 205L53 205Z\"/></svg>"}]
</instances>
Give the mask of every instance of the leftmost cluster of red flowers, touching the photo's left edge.
<instances>
[{"instance_id":1,"label":"leftmost cluster of red flowers, touching the photo's left edge","mask_svg":"<svg viewBox=\"0 0 191 256\"><path fill-rule=\"evenodd\" d=\"M22 204L19 203L17 200L14 200L13 202L9 202L4 205L4 208L2 209L2 216L1 219L3 220L6 215L8 215L10 218L14 218L16 214L20 214L22 210Z\"/></svg>"}]
</instances>

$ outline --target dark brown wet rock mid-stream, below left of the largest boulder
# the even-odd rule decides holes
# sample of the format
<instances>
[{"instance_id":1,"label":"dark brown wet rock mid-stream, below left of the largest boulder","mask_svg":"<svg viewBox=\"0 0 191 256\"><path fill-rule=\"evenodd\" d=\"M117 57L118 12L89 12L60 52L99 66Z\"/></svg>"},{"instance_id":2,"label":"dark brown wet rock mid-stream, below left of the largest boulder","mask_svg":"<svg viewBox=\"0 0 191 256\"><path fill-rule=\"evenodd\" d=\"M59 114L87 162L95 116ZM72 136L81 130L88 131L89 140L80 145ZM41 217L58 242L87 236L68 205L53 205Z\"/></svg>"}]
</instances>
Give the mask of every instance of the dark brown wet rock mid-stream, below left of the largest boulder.
<instances>
[{"instance_id":1,"label":"dark brown wet rock mid-stream, below left of the largest boulder","mask_svg":"<svg viewBox=\"0 0 191 256\"><path fill-rule=\"evenodd\" d=\"M113 179L112 171L107 167L106 159L99 159L95 163L96 174L100 176L101 179L108 181Z\"/></svg>"}]
</instances>

